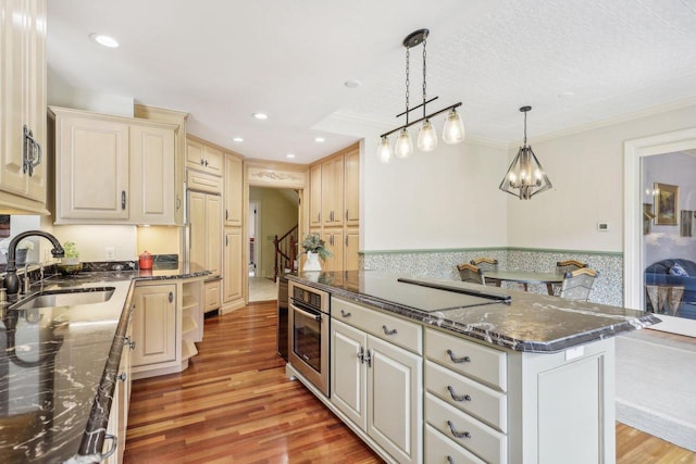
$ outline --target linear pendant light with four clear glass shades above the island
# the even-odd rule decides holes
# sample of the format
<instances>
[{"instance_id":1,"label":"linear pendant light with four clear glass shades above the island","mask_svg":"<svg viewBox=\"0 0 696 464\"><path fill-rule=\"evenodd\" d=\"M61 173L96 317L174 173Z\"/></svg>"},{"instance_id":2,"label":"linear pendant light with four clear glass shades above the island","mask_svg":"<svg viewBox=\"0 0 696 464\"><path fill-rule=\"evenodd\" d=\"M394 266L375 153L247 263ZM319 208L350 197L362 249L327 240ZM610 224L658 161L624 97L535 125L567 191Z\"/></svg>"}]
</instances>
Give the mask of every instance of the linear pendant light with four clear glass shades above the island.
<instances>
[{"instance_id":1,"label":"linear pendant light with four clear glass shades above the island","mask_svg":"<svg viewBox=\"0 0 696 464\"><path fill-rule=\"evenodd\" d=\"M445 120L445 127L443 128L443 140L446 143L460 143L464 140L464 123L457 114L457 108L461 106L461 102L449 105L443 110L436 111L435 113L426 114L425 105L437 100L437 97L434 97L427 100L426 95L426 80L425 80L425 72L426 72L426 63L425 63L425 41L427 39L427 35L430 30L427 29L419 29L411 34L409 34L403 39L403 47L406 48L406 111L397 114L396 117L400 117L406 115L406 124L397 127L394 130L389 130L388 133L384 133L380 136L380 145L377 146L377 155L383 163L388 163L391 159L391 154L396 158L409 158L413 152L413 142L411 141L411 136L408 131L408 128L413 124L418 124L423 122L421 128L418 134L418 148L421 151L433 151L437 148L437 133L435 131L435 127L433 123L431 123L431 117L436 116L445 111L449 111L447 117ZM410 59L410 50L413 47L418 47L423 43L423 102L417 106L409 108L409 59ZM409 113L419 108L423 108L423 117L420 120L409 122ZM394 143L394 150L391 149L391 145L389 143L388 136L398 131L396 142Z\"/></svg>"}]
</instances>

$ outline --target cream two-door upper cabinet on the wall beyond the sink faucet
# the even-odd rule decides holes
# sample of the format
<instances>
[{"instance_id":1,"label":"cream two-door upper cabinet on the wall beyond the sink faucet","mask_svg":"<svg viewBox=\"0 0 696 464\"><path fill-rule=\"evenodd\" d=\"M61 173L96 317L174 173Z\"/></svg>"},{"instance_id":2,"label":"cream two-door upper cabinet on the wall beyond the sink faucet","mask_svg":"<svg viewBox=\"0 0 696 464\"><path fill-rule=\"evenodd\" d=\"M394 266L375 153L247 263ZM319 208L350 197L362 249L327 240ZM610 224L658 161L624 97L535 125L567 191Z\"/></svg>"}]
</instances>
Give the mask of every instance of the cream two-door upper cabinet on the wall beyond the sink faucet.
<instances>
[{"instance_id":1,"label":"cream two-door upper cabinet on the wall beyond the sink faucet","mask_svg":"<svg viewBox=\"0 0 696 464\"><path fill-rule=\"evenodd\" d=\"M176 224L176 125L51 108L55 224Z\"/></svg>"}]
</instances>

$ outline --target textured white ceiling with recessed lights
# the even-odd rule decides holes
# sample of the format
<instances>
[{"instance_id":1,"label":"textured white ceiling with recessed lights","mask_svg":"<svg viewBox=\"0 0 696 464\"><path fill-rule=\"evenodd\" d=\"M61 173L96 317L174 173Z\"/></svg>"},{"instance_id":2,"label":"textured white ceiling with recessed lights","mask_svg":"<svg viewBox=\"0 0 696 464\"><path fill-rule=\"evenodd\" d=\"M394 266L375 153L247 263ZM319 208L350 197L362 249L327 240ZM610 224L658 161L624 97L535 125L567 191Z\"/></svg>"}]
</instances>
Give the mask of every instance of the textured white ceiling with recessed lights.
<instances>
[{"instance_id":1,"label":"textured white ceiling with recessed lights","mask_svg":"<svg viewBox=\"0 0 696 464\"><path fill-rule=\"evenodd\" d=\"M401 40L422 27L428 112L462 101L468 137L519 140L525 104L533 140L696 98L696 0L51 0L48 61L73 87L187 111L189 133L246 156L308 163L355 140L312 129L327 118L400 124Z\"/></svg>"}]
</instances>

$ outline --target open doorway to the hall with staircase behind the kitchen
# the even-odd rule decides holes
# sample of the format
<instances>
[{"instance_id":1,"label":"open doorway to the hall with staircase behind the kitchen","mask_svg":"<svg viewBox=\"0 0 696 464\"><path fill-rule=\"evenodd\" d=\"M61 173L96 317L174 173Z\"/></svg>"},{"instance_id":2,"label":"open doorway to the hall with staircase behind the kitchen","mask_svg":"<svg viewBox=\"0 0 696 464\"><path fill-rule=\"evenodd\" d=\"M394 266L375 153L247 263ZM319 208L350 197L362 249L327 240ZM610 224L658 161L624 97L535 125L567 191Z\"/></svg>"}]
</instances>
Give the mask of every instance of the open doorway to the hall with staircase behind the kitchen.
<instances>
[{"instance_id":1,"label":"open doorway to the hall with staircase behind the kitchen","mask_svg":"<svg viewBox=\"0 0 696 464\"><path fill-rule=\"evenodd\" d=\"M289 188L249 186L248 208L249 301L275 300L275 267L279 263L274 239L298 226L299 195Z\"/></svg>"}]
</instances>

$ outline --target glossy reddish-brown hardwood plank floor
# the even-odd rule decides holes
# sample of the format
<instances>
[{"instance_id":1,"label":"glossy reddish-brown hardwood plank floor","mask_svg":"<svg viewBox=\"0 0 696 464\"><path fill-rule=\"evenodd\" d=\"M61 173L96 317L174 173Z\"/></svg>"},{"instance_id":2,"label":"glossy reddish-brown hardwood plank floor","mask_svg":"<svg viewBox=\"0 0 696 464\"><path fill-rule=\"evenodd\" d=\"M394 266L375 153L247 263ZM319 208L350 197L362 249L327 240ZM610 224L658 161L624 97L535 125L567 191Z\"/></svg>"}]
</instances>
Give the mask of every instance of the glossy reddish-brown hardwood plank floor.
<instances>
[{"instance_id":1,"label":"glossy reddish-brown hardwood plank floor","mask_svg":"<svg viewBox=\"0 0 696 464\"><path fill-rule=\"evenodd\" d=\"M275 302L206 319L182 374L136 380L125 463L381 463L275 352ZM617 424L618 464L696 464L692 453Z\"/></svg>"}]
</instances>

